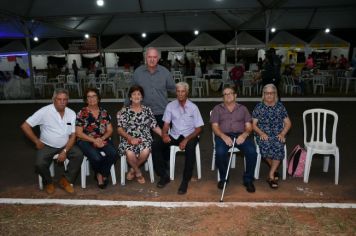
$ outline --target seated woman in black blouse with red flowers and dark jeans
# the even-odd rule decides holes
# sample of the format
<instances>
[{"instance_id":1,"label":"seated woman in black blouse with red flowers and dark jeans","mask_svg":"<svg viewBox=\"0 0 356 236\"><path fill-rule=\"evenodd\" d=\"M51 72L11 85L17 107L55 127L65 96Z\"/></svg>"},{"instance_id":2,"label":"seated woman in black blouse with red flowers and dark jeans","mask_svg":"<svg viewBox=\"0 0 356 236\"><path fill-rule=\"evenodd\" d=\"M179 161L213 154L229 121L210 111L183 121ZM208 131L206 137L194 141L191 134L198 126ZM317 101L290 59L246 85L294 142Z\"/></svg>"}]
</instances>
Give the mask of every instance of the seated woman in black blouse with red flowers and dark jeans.
<instances>
[{"instance_id":1,"label":"seated woman in black blouse with red flowers and dark jeans","mask_svg":"<svg viewBox=\"0 0 356 236\"><path fill-rule=\"evenodd\" d=\"M77 144L95 172L98 187L105 188L108 184L110 168L118 158L111 141L113 133L111 117L99 106L98 89L87 89L83 99L87 106L77 114L75 130L78 137Z\"/></svg>"}]
</instances>

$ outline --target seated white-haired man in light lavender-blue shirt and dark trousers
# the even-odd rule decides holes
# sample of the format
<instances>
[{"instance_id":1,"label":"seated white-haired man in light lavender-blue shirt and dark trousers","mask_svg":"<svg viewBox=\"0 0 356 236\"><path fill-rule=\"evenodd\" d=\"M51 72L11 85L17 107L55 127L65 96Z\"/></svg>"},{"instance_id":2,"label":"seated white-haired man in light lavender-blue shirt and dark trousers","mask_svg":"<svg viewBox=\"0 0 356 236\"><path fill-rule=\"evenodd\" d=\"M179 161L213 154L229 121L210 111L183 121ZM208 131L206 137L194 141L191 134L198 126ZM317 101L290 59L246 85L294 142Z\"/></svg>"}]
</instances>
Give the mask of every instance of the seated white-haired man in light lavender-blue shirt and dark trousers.
<instances>
[{"instance_id":1,"label":"seated white-haired man in light lavender-blue shirt and dark trousers","mask_svg":"<svg viewBox=\"0 0 356 236\"><path fill-rule=\"evenodd\" d=\"M171 145L177 145L181 150L185 150L185 165L183 171L183 180L178 189L178 194L187 192L188 183L192 178L193 167L195 164L195 146L199 140L201 127L204 125L203 119L198 107L188 100L189 85L185 82L176 84L177 99L168 103L163 114L162 140L163 148ZM172 127L170 128L170 125ZM164 187L168 175L164 170L165 158L161 152L156 168L161 170L161 180L157 187Z\"/></svg>"}]
</instances>

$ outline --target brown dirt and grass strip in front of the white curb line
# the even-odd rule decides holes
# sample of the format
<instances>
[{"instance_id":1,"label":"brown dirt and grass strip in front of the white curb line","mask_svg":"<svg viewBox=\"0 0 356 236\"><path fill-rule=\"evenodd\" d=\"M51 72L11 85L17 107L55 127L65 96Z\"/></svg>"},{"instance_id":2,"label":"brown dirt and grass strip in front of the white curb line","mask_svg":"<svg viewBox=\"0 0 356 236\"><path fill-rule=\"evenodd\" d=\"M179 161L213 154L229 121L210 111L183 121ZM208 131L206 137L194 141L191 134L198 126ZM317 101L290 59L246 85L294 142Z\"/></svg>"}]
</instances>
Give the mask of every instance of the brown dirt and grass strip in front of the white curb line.
<instances>
[{"instance_id":1,"label":"brown dirt and grass strip in front of the white curb line","mask_svg":"<svg viewBox=\"0 0 356 236\"><path fill-rule=\"evenodd\" d=\"M1 235L355 235L354 209L0 205Z\"/></svg>"}]
</instances>

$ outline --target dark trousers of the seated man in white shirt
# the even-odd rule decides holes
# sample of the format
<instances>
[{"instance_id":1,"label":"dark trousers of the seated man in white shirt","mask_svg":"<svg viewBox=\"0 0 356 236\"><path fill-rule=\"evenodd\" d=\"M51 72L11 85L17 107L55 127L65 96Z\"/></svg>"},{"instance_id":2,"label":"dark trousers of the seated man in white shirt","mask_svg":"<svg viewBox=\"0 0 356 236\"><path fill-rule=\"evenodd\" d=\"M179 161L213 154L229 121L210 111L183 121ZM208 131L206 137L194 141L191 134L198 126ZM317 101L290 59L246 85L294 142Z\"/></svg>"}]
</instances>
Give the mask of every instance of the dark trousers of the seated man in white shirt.
<instances>
[{"instance_id":1,"label":"dark trousers of the seated man in white shirt","mask_svg":"<svg viewBox=\"0 0 356 236\"><path fill-rule=\"evenodd\" d=\"M59 154L62 150L63 148L54 148L45 145L44 148L37 151L35 170L37 174L41 175L44 185L51 184L53 182L49 166L52 163L53 156ZM83 161L83 153L76 145L74 145L67 151L67 158L69 163L67 171L64 172L64 177L66 177L70 183L74 183L80 171Z\"/></svg>"}]
</instances>

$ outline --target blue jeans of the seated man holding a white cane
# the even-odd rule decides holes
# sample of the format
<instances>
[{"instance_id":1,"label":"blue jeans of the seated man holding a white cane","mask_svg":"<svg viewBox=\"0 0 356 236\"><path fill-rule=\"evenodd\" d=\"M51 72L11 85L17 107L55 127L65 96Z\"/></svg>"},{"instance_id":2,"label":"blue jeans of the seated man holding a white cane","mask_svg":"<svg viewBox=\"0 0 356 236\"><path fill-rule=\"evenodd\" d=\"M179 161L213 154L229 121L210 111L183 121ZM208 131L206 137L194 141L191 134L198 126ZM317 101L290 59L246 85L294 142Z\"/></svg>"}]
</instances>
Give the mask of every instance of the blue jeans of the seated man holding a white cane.
<instances>
[{"instance_id":1,"label":"blue jeans of the seated man holding a white cane","mask_svg":"<svg viewBox=\"0 0 356 236\"><path fill-rule=\"evenodd\" d=\"M238 137L240 134L228 133L226 135L230 136L231 139L233 139L233 137ZM235 147L237 147L240 151L243 152L246 159L246 171L243 175L243 183L246 184L254 181L254 173L257 159L255 144L251 139L247 138L242 144L238 145L237 143L235 143ZM215 164L219 170L221 179L225 179L226 176L226 171L229 164L228 150L230 148L231 147L225 144L224 140L222 140L218 136L215 136Z\"/></svg>"}]
</instances>

